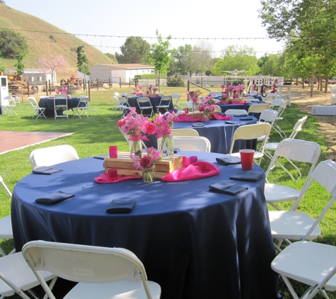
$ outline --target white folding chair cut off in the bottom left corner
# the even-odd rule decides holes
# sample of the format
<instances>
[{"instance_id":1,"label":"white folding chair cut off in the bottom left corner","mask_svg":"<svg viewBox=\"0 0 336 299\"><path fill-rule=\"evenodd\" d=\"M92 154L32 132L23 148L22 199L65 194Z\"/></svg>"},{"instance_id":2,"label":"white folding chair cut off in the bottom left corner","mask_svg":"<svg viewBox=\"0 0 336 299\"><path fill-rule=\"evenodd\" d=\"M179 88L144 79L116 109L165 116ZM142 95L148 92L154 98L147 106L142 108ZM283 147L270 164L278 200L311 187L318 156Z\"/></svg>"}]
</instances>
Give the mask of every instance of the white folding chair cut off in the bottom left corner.
<instances>
[{"instance_id":1,"label":"white folding chair cut off in the bottom left corner","mask_svg":"<svg viewBox=\"0 0 336 299\"><path fill-rule=\"evenodd\" d=\"M49 271L40 271L40 278L43 281L52 280L50 288L53 288L57 280L57 276ZM0 299L15 294L21 298L30 299L31 297L24 293L25 291L33 295L33 298L38 298L33 290L30 290L38 285L40 285L40 282L23 259L21 252L8 254L0 258Z\"/></svg>"}]
</instances>

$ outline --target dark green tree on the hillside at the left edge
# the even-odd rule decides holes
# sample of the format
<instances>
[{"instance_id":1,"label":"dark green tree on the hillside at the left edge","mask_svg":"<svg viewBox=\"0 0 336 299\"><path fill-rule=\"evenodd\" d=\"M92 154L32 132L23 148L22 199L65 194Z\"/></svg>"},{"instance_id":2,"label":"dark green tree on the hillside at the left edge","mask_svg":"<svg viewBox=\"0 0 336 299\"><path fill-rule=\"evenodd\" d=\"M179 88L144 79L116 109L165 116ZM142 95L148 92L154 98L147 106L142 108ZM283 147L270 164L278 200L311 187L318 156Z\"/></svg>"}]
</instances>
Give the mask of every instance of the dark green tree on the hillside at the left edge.
<instances>
[{"instance_id":1,"label":"dark green tree on the hillside at the left edge","mask_svg":"<svg viewBox=\"0 0 336 299\"><path fill-rule=\"evenodd\" d=\"M23 35L13 30L0 30L0 55L13 59L21 52L28 52L28 45Z\"/></svg>"}]
</instances>

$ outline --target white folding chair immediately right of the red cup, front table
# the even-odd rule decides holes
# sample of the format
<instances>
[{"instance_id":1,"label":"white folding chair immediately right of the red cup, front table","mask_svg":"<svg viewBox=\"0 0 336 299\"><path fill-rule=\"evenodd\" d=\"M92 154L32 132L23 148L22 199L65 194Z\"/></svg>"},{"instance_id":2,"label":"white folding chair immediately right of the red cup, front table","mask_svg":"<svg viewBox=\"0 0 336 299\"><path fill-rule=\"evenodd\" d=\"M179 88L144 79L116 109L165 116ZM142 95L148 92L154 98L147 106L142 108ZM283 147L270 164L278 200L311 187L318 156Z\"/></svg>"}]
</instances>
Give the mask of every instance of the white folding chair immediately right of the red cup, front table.
<instances>
[{"instance_id":1,"label":"white folding chair immediately right of the red cup, front table","mask_svg":"<svg viewBox=\"0 0 336 299\"><path fill-rule=\"evenodd\" d=\"M304 182L301 191L290 188L288 186L268 183L268 176L270 171L274 168L274 165L279 165L279 167L282 167L282 169L284 169L291 176L291 178L294 179L289 170L286 169L283 164L278 162L282 157L286 158L287 161L289 161L289 164L291 164L291 166L293 166L295 169L297 169L297 167L294 165L294 162L311 164L311 167L306 176L306 181ZM277 210L282 210L277 206L276 203L300 200L300 198L302 198L304 195L303 190L311 177L315 165L318 163L319 157L320 145L318 145L316 142L289 138L279 142L277 150L274 152L274 157L272 158L272 161L270 162L270 165L265 174L267 181L267 184L265 184L266 202L270 203L270 205L272 205L274 208L277 208Z\"/></svg>"}]
</instances>

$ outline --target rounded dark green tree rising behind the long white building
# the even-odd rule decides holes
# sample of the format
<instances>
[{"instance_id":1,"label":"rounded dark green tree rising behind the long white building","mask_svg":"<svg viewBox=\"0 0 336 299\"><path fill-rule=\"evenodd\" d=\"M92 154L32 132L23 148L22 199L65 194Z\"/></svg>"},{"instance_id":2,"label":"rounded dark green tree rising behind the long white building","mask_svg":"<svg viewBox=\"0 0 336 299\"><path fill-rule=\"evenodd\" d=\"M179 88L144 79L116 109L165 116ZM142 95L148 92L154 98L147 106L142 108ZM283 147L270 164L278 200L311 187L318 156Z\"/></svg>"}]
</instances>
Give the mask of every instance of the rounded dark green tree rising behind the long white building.
<instances>
[{"instance_id":1,"label":"rounded dark green tree rising behind the long white building","mask_svg":"<svg viewBox=\"0 0 336 299\"><path fill-rule=\"evenodd\" d=\"M129 36L120 47L122 54L115 53L119 63L143 63L151 50L151 45L139 36Z\"/></svg>"}]
</instances>

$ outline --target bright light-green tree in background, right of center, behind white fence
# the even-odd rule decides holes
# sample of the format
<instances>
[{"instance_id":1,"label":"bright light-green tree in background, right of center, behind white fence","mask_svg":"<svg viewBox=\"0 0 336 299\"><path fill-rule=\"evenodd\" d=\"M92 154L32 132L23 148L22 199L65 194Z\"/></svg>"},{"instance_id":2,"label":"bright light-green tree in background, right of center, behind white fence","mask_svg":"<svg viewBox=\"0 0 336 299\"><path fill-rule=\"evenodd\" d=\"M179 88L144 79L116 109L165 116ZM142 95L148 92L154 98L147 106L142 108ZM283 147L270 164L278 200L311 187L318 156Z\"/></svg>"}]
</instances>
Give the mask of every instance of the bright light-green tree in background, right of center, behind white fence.
<instances>
[{"instance_id":1,"label":"bright light-green tree in background, right of center, behind white fence","mask_svg":"<svg viewBox=\"0 0 336 299\"><path fill-rule=\"evenodd\" d=\"M260 72L257 57L252 47L229 45L222 50L219 59L212 68L212 74L224 75L224 71L245 71L243 74L253 75Z\"/></svg>"}]
</instances>

